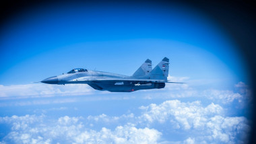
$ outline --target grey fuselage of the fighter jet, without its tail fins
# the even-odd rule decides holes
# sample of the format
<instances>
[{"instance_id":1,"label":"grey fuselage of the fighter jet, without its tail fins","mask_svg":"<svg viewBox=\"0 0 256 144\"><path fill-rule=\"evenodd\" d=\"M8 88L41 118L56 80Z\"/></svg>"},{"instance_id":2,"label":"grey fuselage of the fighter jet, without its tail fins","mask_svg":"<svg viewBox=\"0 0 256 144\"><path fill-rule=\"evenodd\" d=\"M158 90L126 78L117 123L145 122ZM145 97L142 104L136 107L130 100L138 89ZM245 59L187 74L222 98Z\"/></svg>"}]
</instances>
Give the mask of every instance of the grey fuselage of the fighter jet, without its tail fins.
<instances>
[{"instance_id":1,"label":"grey fuselage of the fighter jet, without its tail fins","mask_svg":"<svg viewBox=\"0 0 256 144\"><path fill-rule=\"evenodd\" d=\"M114 79L114 80L113 80ZM116 79L116 80L115 80ZM151 81L127 81L127 79L149 79L149 77L133 77L108 73L103 71L85 71L79 73L65 73L44 79L42 83L49 84L88 84L94 89L109 92L134 92L139 89L164 88L165 83L152 83ZM123 81L122 81L123 80Z\"/></svg>"}]
</instances>

